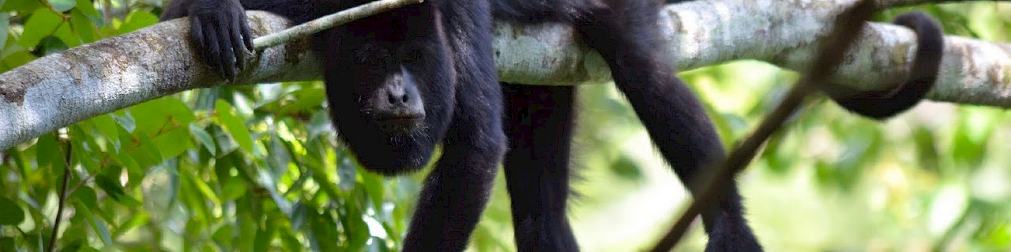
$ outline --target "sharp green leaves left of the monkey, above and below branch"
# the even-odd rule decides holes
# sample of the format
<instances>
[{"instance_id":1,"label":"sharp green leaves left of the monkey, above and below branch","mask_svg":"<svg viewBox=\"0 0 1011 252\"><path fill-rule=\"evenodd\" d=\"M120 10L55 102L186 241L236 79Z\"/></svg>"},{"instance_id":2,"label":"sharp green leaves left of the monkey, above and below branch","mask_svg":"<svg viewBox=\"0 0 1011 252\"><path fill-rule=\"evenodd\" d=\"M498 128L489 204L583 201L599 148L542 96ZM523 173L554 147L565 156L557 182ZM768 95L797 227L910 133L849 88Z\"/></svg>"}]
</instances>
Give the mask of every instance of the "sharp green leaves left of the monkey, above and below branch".
<instances>
[{"instance_id":1,"label":"sharp green leaves left of the monkey, above and below branch","mask_svg":"<svg viewBox=\"0 0 1011 252\"><path fill-rule=\"evenodd\" d=\"M158 21L157 6L97 2L7 1L0 71ZM6 150L0 251L49 246L68 144L61 250L394 250L420 184L335 149L321 94L317 82L184 92Z\"/></svg>"}]
</instances>

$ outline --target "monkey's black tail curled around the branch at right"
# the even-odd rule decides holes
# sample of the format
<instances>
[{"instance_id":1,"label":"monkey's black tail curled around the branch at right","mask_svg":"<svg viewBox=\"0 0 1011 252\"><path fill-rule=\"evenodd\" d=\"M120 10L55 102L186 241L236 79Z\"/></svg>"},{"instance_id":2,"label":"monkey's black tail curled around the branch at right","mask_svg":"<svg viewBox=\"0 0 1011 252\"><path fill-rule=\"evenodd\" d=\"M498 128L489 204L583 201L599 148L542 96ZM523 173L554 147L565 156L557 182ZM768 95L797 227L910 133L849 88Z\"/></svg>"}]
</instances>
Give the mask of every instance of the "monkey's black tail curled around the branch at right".
<instances>
[{"instance_id":1,"label":"monkey's black tail curled around the branch at right","mask_svg":"<svg viewBox=\"0 0 1011 252\"><path fill-rule=\"evenodd\" d=\"M944 33L933 18L923 12L900 15L895 24L916 32L916 55L905 83L887 91L856 91L829 84L823 91L839 106L861 116L886 119L915 106L934 87L944 52Z\"/></svg>"}]
</instances>

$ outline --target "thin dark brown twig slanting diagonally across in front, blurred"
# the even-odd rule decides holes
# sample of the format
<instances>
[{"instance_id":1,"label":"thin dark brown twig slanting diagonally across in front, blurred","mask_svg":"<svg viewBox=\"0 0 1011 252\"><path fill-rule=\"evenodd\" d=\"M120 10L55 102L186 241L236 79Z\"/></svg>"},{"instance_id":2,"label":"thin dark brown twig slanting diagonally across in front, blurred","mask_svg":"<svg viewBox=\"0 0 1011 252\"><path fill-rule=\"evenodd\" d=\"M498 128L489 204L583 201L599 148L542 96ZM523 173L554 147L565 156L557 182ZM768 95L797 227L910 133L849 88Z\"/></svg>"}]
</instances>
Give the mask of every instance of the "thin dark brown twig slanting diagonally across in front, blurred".
<instances>
[{"instance_id":1,"label":"thin dark brown twig slanting diagonally across in front, blurred","mask_svg":"<svg viewBox=\"0 0 1011 252\"><path fill-rule=\"evenodd\" d=\"M695 201L684 210L680 219L674 223L670 231L653 247L652 251L670 251L681 239L692 221L695 220L703 208L714 205L718 199L718 194L726 194L725 182L733 181L734 175L744 169L745 165L754 158L765 141L775 133L791 115L797 112L818 83L821 83L836 66L842 60L842 56L853 43L860 32L860 27L876 6L874 1L860 1L836 18L833 31L825 38L825 42L819 49L815 66L802 78L798 84L794 85L790 93L784 98L776 108L762 120L758 128L751 133L739 146L730 152L727 160L719 166L715 166L709 175L700 177L702 183Z\"/></svg>"}]
</instances>

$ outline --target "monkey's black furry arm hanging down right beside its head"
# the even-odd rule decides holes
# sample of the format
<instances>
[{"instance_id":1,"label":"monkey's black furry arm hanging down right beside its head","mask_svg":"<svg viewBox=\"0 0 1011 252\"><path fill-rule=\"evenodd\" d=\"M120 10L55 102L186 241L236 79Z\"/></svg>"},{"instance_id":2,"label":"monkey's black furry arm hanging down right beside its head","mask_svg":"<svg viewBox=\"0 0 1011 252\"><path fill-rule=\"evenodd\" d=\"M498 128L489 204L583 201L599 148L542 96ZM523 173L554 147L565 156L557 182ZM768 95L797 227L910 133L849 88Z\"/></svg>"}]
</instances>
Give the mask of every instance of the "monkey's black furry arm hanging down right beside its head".
<instances>
[{"instance_id":1,"label":"monkey's black furry arm hanging down right beside its head","mask_svg":"<svg viewBox=\"0 0 1011 252\"><path fill-rule=\"evenodd\" d=\"M435 1L456 70L456 100L443 154L425 180L404 251L463 251L505 154L502 97L485 0Z\"/></svg>"}]
</instances>

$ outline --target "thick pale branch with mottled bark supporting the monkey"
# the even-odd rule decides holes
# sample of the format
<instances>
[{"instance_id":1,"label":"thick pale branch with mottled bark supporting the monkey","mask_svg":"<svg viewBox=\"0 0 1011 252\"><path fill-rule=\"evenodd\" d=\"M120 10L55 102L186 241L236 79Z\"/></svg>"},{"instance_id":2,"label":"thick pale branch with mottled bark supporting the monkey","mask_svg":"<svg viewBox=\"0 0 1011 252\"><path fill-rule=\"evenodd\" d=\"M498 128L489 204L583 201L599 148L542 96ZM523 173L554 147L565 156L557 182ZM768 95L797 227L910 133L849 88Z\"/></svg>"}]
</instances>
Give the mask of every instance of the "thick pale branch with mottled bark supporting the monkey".
<instances>
[{"instance_id":1,"label":"thick pale branch with mottled bark supporting the monkey","mask_svg":"<svg viewBox=\"0 0 1011 252\"><path fill-rule=\"evenodd\" d=\"M879 0L895 4L915 0ZM668 6L663 33L680 69L733 59L758 59L806 71L831 17L853 0L711 0ZM256 35L289 26L250 12ZM184 90L231 85L196 58L185 20L153 25L52 54L0 75L0 149L92 116ZM916 47L909 29L871 24L846 53L833 81L859 89L889 89L903 80ZM557 24L495 30L503 82L578 85L610 81L603 59ZM948 36L932 100L1011 107L1011 44ZM265 49L235 83L317 79L320 69L305 39Z\"/></svg>"}]
</instances>

